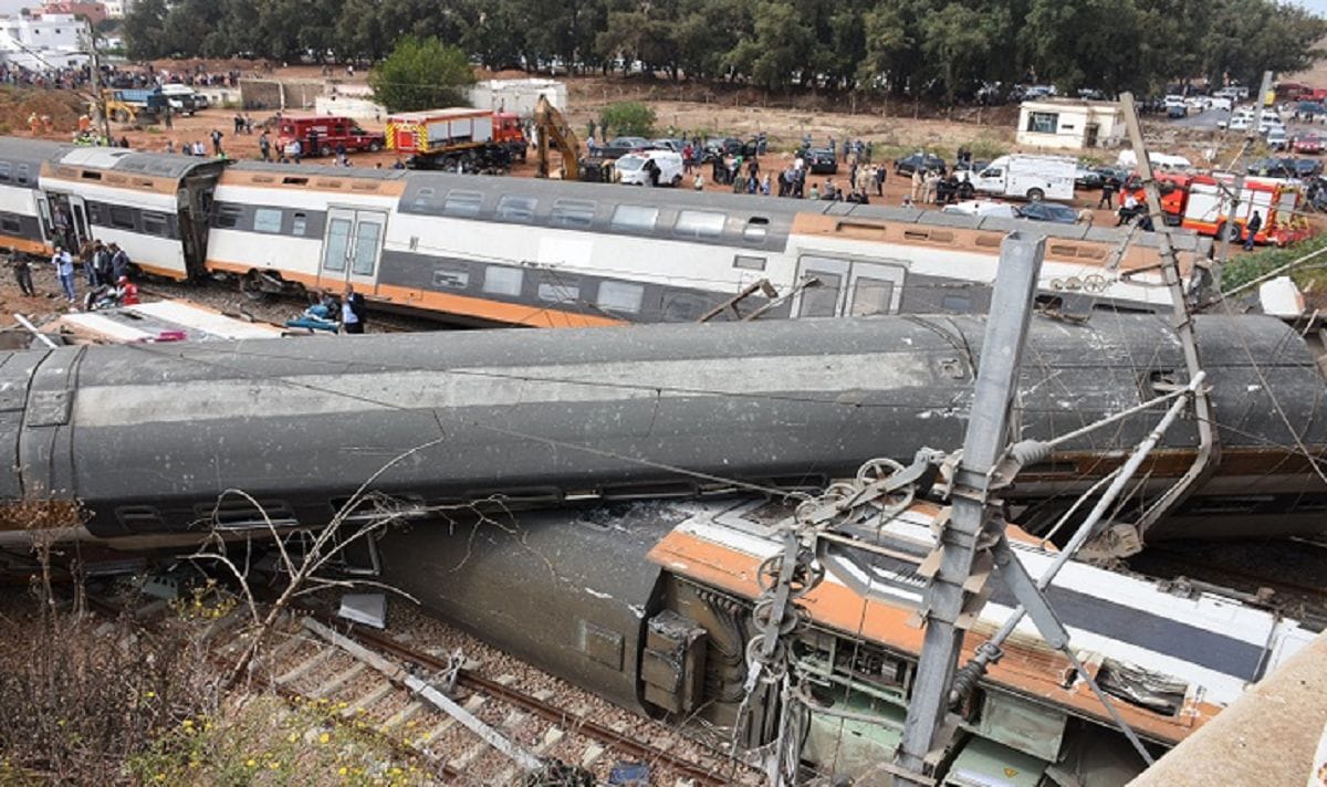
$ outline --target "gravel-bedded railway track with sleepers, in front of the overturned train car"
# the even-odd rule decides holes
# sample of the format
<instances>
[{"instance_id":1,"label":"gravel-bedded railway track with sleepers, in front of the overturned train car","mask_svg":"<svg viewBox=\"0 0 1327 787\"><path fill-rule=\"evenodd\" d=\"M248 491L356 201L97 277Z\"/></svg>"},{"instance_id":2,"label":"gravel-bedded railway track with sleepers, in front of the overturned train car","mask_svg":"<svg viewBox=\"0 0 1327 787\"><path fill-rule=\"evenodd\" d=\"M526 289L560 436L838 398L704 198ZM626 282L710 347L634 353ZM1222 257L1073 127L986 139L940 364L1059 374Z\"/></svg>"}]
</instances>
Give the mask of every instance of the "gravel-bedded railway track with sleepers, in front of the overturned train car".
<instances>
[{"instance_id":1,"label":"gravel-bedded railway track with sleepers, in front of the overturned train car","mask_svg":"<svg viewBox=\"0 0 1327 787\"><path fill-rule=\"evenodd\" d=\"M113 601L92 601L109 614L121 614ZM142 625L151 625L154 616L169 609L153 601L134 614ZM243 648L244 640L232 634L243 628L245 616L243 605L238 605L224 617L204 622L199 637L210 645L218 669L234 664ZM520 760L467 727L464 719L430 703L401 674L382 674L313 632L322 628L336 629L389 660L401 674L449 695L464 714L537 759L543 770L529 772L518 764ZM337 723L376 737L397 755L425 764L442 783L594 784L605 783L617 763L645 764L652 784L718 787L758 782L752 771L722 752L683 743L675 730L634 717L626 722L621 718L625 711L614 721L591 702L568 699L555 686L531 685L518 670L487 677L476 664L462 664L455 652L418 646L409 630L386 634L325 612L301 609L287 616L268 641L256 666L263 685L291 703L314 705ZM658 741L646 741L646 735Z\"/></svg>"}]
</instances>

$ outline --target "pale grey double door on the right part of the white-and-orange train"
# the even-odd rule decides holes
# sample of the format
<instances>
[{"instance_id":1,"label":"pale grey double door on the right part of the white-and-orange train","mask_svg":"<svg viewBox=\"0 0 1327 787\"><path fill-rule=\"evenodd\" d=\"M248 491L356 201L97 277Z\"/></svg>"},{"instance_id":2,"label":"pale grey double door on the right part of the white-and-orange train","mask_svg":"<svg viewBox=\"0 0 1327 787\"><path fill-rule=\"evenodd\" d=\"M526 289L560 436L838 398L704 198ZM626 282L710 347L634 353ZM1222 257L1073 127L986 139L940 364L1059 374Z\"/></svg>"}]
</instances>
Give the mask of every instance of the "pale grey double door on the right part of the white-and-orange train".
<instances>
[{"instance_id":1,"label":"pale grey double door on the right part of the white-and-orange train","mask_svg":"<svg viewBox=\"0 0 1327 787\"><path fill-rule=\"evenodd\" d=\"M906 273L904 265L803 255L798 261L802 291L794 299L792 313L798 317L897 313Z\"/></svg>"}]
</instances>

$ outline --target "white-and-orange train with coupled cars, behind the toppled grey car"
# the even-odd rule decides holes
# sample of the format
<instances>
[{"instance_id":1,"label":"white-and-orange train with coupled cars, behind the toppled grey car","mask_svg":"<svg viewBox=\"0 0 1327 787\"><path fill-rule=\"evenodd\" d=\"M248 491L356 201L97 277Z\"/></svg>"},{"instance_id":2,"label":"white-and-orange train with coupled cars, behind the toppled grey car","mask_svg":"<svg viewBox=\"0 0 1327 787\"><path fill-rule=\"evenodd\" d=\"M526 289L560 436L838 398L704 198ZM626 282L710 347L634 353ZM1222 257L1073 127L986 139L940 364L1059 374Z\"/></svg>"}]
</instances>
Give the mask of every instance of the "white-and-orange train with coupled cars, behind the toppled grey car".
<instances>
[{"instance_id":1,"label":"white-and-orange train with coupled cars, behind the toppled grey car","mask_svg":"<svg viewBox=\"0 0 1327 787\"><path fill-rule=\"evenodd\" d=\"M25 179L7 182L20 167ZM353 284L380 307L484 325L690 321L717 307L717 319L983 313L1014 230L1047 239L1048 304L1170 305L1156 239L1113 228L0 139L0 243L13 248L100 238L173 279L234 279L253 296ZM1185 271L1210 243L1173 242Z\"/></svg>"}]
</instances>

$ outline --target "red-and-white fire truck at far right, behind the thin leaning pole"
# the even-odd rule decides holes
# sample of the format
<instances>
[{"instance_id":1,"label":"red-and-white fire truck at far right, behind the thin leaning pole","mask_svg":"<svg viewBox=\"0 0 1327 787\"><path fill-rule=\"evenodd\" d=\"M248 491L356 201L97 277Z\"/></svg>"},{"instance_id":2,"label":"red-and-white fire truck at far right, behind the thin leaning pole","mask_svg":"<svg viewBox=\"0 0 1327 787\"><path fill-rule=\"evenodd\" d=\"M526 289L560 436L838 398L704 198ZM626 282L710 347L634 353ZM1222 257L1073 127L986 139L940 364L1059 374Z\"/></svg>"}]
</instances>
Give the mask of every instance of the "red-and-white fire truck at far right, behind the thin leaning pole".
<instances>
[{"instance_id":1,"label":"red-and-white fire truck at far right, behind the thin leaning pole","mask_svg":"<svg viewBox=\"0 0 1327 787\"><path fill-rule=\"evenodd\" d=\"M1243 239L1249 219L1258 211L1262 227L1254 234L1254 243L1286 246L1312 234L1308 222L1299 215L1303 187L1295 180L1245 178L1239 206L1231 216L1234 182L1235 177L1227 173L1193 177L1181 226L1213 238L1226 232L1238 240Z\"/></svg>"}]
</instances>

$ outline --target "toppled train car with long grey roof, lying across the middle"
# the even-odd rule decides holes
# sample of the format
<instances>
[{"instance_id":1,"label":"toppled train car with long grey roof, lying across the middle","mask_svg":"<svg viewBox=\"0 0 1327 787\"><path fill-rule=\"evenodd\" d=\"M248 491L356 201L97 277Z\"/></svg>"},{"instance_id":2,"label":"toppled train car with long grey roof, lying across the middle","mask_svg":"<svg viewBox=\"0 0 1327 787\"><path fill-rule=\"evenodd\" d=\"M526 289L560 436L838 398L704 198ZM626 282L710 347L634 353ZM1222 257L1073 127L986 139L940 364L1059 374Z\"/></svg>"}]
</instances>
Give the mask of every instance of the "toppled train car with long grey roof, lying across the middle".
<instances>
[{"instance_id":1,"label":"toppled train car with long grey roof, lying across the middle","mask_svg":"<svg viewBox=\"0 0 1327 787\"><path fill-rule=\"evenodd\" d=\"M1322 532L1312 354L1271 319L1196 320L1221 462L1143 540ZM982 337L981 319L955 316L12 352L0 499L77 502L97 537L187 540L321 526L370 478L421 514L820 487L874 457L961 445ZM1185 377L1154 316L1038 319L1026 358L1023 438ZM1064 443L1005 496L1040 527L1152 426L1140 413ZM1136 496L1170 484L1196 445L1192 423L1173 427ZM219 504L231 488L260 507Z\"/></svg>"}]
</instances>

